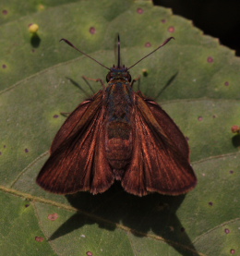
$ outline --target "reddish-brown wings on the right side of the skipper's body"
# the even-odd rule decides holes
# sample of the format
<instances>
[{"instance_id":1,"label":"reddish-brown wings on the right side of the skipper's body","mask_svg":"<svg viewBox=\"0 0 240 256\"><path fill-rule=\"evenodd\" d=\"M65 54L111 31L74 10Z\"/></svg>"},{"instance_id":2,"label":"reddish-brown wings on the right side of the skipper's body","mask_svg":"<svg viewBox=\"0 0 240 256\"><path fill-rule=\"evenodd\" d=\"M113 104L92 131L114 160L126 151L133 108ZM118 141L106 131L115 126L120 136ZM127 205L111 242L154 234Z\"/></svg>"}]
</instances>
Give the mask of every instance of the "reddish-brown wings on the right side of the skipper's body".
<instances>
[{"instance_id":1,"label":"reddish-brown wings on the right side of the skipper's body","mask_svg":"<svg viewBox=\"0 0 240 256\"><path fill-rule=\"evenodd\" d=\"M132 162L122 179L127 192L179 195L193 189L197 177L189 164L186 139L153 101L135 93L135 141Z\"/></svg>"}]
</instances>

